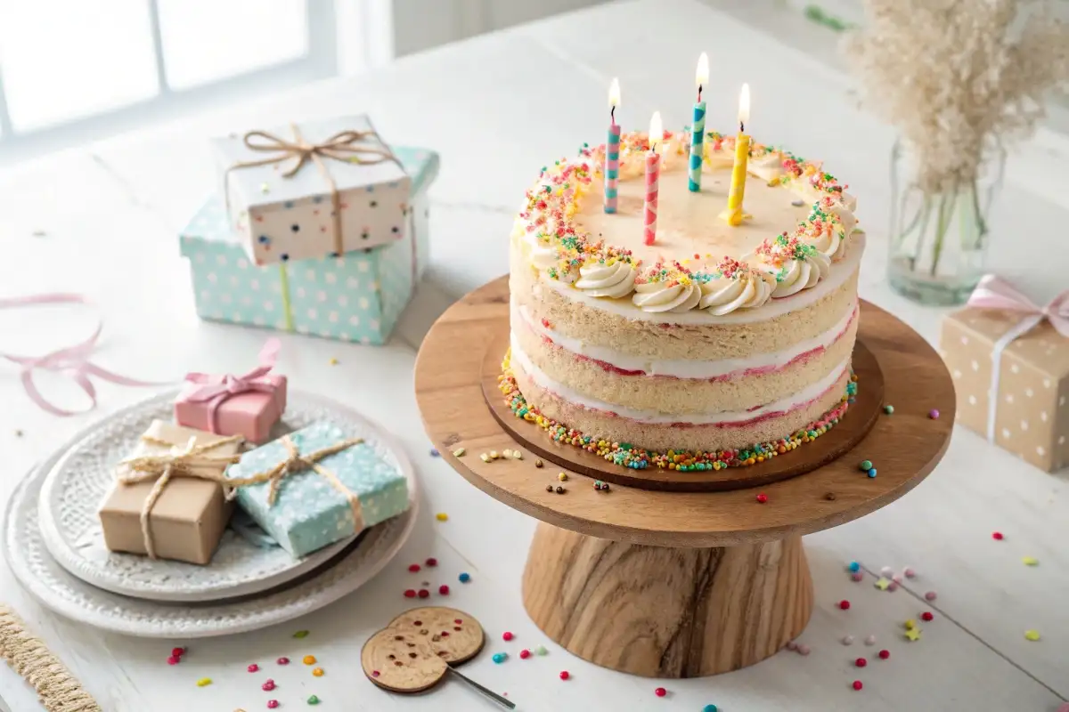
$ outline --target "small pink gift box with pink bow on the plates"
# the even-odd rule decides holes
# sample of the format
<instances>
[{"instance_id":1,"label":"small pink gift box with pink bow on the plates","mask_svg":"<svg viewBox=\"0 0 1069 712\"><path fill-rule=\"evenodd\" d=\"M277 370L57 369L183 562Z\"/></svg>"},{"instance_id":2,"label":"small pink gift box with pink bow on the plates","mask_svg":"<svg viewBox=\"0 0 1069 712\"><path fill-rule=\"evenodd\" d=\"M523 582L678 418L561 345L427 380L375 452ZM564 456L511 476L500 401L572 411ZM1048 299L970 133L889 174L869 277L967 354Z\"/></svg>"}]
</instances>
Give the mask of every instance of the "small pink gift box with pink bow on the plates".
<instances>
[{"instance_id":1,"label":"small pink gift box with pink bow on the plates","mask_svg":"<svg viewBox=\"0 0 1069 712\"><path fill-rule=\"evenodd\" d=\"M174 420L220 436L242 436L253 443L268 439L285 411L285 376L272 374L279 342L268 339L260 365L242 376L186 374L174 400Z\"/></svg>"}]
</instances>

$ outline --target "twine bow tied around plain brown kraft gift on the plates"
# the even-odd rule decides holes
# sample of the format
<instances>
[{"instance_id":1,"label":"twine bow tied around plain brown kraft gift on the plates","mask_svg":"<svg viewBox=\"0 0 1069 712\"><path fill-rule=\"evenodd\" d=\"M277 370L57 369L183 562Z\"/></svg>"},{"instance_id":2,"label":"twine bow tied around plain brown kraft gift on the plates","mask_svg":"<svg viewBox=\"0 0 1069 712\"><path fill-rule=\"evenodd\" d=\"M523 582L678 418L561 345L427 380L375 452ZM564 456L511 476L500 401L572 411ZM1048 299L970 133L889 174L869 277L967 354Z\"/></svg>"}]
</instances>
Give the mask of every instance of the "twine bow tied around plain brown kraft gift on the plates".
<instances>
[{"instance_id":1,"label":"twine bow tied around plain brown kraft gift on the plates","mask_svg":"<svg viewBox=\"0 0 1069 712\"><path fill-rule=\"evenodd\" d=\"M141 536L144 538L144 551L149 558L156 558L156 547L152 539L152 529L149 526L149 517L152 508L156 506L159 495L171 480L171 477L195 477L218 482L224 487L234 487L223 475L223 470L228 464L233 464L241 459L239 455L217 455L210 453L217 447L241 442L241 436L223 438L213 443L198 445L197 438L190 438L185 445L172 443L151 436L141 436L141 440L153 445L170 446L169 453L158 455L141 455L124 460L121 464L126 466L126 472L119 475L119 481L123 485L136 485L138 482L153 482L149 496L141 505ZM228 491L228 499L230 493Z\"/></svg>"}]
</instances>

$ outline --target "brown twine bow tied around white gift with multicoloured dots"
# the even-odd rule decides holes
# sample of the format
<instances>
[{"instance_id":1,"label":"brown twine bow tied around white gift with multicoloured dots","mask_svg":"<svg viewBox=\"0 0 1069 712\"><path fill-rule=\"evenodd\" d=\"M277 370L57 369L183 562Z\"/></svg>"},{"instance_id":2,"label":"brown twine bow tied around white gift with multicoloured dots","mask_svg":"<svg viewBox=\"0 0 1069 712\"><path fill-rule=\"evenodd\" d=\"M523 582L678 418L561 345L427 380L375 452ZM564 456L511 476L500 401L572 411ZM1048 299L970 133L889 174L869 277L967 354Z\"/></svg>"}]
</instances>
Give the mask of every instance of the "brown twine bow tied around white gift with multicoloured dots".
<instances>
[{"instance_id":1,"label":"brown twine bow tied around white gift with multicoloured dots","mask_svg":"<svg viewBox=\"0 0 1069 712\"><path fill-rule=\"evenodd\" d=\"M306 163L315 163L315 167L326 180L330 189L330 216L334 218L334 243L335 256L340 256L344 252L344 241L341 231L341 197L338 194L338 186L330 175L324 158L346 163L382 163L391 160L400 165L397 157L387 148L375 131L339 131L330 138L320 143L309 143L300 135L300 129L296 124L290 124L293 131L293 140L286 141L267 131L249 131L243 137L245 147L259 154L270 154L265 158L250 161L238 161L227 170L227 175L231 171L243 168L253 168L257 165L282 165L289 161L291 165L282 171L283 178L295 176ZM368 143L368 139L375 139L377 144ZM230 211L230 197L228 191L227 210Z\"/></svg>"}]
</instances>

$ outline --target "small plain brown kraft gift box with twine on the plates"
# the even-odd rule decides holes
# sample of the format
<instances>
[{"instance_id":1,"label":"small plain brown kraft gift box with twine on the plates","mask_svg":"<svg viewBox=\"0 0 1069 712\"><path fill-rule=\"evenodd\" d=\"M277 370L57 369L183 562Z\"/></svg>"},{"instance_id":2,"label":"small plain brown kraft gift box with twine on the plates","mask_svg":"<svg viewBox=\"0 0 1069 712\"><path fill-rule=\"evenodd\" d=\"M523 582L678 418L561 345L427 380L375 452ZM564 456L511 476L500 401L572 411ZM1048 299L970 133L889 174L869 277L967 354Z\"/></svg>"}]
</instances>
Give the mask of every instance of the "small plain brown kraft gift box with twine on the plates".
<instances>
[{"instance_id":1,"label":"small plain brown kraft gift box with twine on the plates","mask_svg":"<svg viewBox=\"0 0 1069 712\"><path fill-rule=\"evenodd\" d=\"M118 465L118 481L100 504L105 545L153 558L211 561L233 511L219 480L236 459L241 442L153 421L129 459ZM150 493L168 466L168 479L151 502ZM142 527L145 507L149 516Z\"/></svg>"}]
</instances>

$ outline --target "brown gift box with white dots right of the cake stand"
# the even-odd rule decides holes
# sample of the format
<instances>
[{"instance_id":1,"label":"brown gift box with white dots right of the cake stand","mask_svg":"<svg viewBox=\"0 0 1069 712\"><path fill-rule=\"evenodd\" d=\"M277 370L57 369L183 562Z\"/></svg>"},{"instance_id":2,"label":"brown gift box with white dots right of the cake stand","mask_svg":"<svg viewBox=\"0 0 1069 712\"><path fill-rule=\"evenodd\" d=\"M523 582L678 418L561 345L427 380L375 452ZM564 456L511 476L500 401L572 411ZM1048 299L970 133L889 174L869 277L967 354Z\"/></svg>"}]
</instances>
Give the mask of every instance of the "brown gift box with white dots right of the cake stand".
<instances>
[{"instance_id":1,"label":"brown gift box with white dots right of the cake stand","mask_svg":"<svg viewBox=\"0 0 1069 712\"><path fill-rule=\"evenodd\" d=\"M940 347L958 422L1052 472L1069 463L1069 336L1036 312L967 306L944 319Z\"/></svg>"}]
</instances>

